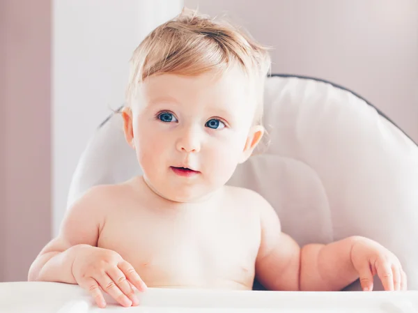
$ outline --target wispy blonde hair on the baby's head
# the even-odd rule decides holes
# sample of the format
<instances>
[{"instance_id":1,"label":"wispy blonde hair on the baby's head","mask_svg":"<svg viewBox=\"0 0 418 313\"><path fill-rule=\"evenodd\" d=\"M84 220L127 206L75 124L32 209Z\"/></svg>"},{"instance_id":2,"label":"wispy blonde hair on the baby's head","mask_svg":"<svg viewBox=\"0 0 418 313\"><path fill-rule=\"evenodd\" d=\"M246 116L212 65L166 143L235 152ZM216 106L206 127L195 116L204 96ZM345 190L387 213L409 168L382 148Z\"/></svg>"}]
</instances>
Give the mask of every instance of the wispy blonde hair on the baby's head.
<instances>
[{"instance_id":1,"label":"wispy blonde hair on the baby's head","mask_svg":"<svg viewBox=\"0 0 418 313\"><path fill-rule=\"evenodd\" d=\"M127 106L137 95L138 86L151 75L171 73L219 74L238 65L256 88L256 119L263 115L264 81L270 72L268 48L248 33L226 21L184 8L180 15L158 26L134 50L126 91Z\"/></svg>"}]
</instances>

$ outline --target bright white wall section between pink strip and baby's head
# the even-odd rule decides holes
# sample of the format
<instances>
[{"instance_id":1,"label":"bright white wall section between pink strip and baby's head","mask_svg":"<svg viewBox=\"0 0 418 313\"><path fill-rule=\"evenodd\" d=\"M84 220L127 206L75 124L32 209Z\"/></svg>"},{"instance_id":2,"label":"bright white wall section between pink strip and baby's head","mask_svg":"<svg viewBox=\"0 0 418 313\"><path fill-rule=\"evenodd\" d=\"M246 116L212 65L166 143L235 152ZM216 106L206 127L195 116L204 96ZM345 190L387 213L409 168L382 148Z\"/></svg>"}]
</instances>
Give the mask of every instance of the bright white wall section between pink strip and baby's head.
<instances>
[{"instance_id":1,"label":"bright white wall section between pink strip and baby's head","mask_svg":"<svg viewBox=\"0 0 418 313\"><path fill-rule=\"evenodd\" d=\"M180 0L54 1L54 234L88 139L123 104L134 48L182 7Z\"/></svg>"}]
</instances>

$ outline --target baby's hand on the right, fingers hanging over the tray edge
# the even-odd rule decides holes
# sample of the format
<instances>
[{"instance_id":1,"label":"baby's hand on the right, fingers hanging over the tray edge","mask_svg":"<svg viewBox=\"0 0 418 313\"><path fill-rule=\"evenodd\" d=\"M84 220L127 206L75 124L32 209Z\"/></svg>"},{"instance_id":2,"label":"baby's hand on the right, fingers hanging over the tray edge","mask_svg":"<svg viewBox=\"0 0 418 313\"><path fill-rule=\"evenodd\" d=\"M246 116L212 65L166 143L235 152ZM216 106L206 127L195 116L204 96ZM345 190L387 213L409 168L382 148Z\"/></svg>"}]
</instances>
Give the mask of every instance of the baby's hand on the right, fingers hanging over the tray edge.
<instances>
[{"instance_id":1,"label":"baby's hand on the right, fingers hanging over the tray edge","mask_svg":"<svg viewBox=\"0 0 418 313\"><path fill-rule=\"evenodd\" d=\"M406 274L398 258L382 245L367 238L354 241L351 262L359 273L364 291L373 290L373 276L378 274L385 290L406 290Z\"/></svg>"}]
</instances>

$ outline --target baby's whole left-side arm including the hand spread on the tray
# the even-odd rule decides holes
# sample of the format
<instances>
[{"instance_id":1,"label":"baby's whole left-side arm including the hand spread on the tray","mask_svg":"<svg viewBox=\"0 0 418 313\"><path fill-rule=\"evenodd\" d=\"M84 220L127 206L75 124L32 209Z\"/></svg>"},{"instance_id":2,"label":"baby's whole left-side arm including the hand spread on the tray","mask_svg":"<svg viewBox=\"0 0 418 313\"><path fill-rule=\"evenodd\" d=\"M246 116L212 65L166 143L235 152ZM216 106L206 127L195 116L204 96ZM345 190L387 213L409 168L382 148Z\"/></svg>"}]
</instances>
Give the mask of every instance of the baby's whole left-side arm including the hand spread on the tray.
<instances>
[{"instance_id":1,"label":"baby's whole left-side arm including the hand spread on the tray","mask_svg":"<svg viewBox=\"0 0 418 313\"><path fill-rule=\"evenodd\" d=\"M109 188L91 189L69 209L59 236L33 261L28 280L79 284L100 307L106 306L102 291L125 307L139 304L132 285L139 291L146 285L133 266L117 252L97 247L106 206L120 196Z\"/></svg>"}]
</instances>

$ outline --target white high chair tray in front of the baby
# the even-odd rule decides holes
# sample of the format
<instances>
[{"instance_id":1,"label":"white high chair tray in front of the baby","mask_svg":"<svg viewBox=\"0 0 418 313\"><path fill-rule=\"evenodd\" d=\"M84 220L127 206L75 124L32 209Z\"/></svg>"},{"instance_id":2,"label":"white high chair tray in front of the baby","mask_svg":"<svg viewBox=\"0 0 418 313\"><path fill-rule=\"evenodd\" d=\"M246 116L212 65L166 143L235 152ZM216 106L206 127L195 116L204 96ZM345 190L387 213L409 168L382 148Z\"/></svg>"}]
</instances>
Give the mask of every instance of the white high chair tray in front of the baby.
<instances>
[{"instance_id":1,"label":"white high chair tray in front of the baby","mask_svg":"<svg viewBox=\"0 0 418 313\"><path fill-rule=\"evenodd\" d=\"M95 306L77 285L52 282L0 283L1 313L418 313L418 291L276 292L153 289L138 307L121 307L106 296L107 307Z\"/></svg>"}]
</instances>

